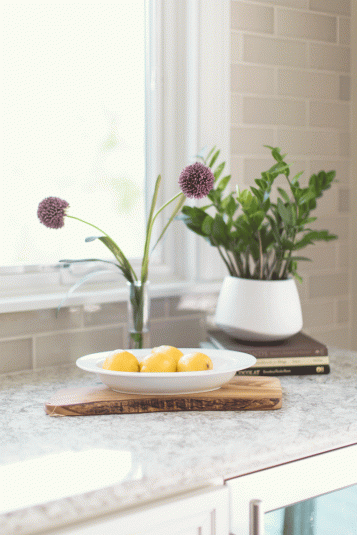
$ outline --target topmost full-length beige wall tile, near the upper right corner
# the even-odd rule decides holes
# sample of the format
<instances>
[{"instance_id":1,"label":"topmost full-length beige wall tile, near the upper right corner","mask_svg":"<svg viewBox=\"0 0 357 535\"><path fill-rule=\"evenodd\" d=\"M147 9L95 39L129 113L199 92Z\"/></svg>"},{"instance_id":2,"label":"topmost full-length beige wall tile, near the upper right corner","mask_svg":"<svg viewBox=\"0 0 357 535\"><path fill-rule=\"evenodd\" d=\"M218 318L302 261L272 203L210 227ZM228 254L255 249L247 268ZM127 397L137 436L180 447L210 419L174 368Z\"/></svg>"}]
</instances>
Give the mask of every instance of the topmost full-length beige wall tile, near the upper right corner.
<instances>
[{"instance_id":1,"label":"topmost full-length beige wall tile, near the upper right corner","mask_svg":"<svg viewBox=\"0 0 357 535\"><path fill-rule=\"evenodd\" d=\"M337 41L337 18L293 9L277 9L277 33L285 37Z\"/></svg>"}]
</instances>

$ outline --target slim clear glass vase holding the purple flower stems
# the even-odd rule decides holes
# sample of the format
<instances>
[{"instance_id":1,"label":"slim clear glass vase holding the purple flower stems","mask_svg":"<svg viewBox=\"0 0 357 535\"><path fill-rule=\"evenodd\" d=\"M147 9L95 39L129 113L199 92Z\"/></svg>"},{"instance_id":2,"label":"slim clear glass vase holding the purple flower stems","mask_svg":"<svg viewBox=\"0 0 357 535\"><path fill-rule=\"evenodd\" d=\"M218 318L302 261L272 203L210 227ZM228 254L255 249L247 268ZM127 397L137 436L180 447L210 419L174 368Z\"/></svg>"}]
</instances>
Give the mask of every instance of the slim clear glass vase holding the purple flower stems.
<instances>
[{"instance_id":1,"label":"slim clear glass vase holding the purple flower stems","mask_svg":"<svg viewBox=\"0 0 357 535\"><path fill-rule=\"evenodd\" d=\"M150 347L149 282L128 282L128 337L129 349Z\"/></svg>"}]
</instances>

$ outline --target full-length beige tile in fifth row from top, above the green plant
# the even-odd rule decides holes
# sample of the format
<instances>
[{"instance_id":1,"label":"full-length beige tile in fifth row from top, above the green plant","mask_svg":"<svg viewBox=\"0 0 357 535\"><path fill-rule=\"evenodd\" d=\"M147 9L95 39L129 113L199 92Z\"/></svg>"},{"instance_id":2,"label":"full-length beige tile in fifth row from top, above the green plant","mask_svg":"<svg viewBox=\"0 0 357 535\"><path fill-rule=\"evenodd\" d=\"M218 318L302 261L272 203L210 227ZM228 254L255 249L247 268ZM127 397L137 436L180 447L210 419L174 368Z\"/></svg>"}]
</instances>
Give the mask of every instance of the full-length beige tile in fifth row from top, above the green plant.
<instances>
[{"instance_id":1,"label":"full-length beige tile in fifth row from top, above the green plant","mask_svg":"<svg viewBox=\"0 0 357 535\"><path fill-rule=\"evenodd\" d=\"M306 103L282 98L244 97L243 122L305 126Z\"/></svg>"}]
</instances>

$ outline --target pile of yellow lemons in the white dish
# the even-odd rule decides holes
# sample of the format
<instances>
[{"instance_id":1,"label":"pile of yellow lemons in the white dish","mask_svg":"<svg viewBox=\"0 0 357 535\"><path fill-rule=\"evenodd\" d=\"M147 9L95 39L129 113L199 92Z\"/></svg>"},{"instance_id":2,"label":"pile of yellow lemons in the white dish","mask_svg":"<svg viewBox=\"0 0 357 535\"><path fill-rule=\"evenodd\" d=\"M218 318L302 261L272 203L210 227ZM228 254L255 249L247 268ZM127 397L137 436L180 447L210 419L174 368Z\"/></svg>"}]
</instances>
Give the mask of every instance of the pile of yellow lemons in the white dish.
<instances>
[{"instance_id":1,"label":"pile of yellow lemons in the white dish","mask_svg":"<svg viewBox=\"0 0 357 535\"><path fill-rule=\"evenodd\" d=\"M103 363L104 370L117 372L194 372L212 368L212 360L204 353L184 355L173 346L154 347L141 362L130 351L115 350Z\"/></svg>"}]
</instances>

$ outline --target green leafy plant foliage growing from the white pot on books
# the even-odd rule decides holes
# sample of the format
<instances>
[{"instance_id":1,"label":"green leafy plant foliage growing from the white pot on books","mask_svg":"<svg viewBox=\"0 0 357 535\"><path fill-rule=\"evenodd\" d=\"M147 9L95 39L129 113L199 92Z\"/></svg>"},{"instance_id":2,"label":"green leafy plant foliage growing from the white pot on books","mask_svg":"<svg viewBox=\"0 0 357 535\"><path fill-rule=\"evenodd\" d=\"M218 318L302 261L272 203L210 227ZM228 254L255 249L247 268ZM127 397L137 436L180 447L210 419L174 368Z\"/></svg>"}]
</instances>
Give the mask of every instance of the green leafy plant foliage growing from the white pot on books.
<instances>
[{"instance_id":1,"label":"green leafy plant foliage growing from the white pot on books","mask_svg":"<svg viewBox=\"0 0 357 535\"><path fill-rule=\"evenodd\" d=\"M281 149L270 147L274 165L261 173L255 186L242 191L236 188L225 194L231 175L223 176L225 162L216 165L220 150L210 150L206 157L197 156L210 167L215 186L207 195L210 204L184 206L177 219L196 234L217 247L229 275L245 279L284 280L289 276L301 281L297 273L300 261L309 258L299 251L316 241L337 238L328 230L310 228L316 217L310 213L317 199L331 187L335 171L313 174L306 187L300 186L303 171L290 177L290 165ZM283 175L287 188L277 188L277 202L272 201L275 179Z\"/></svg>"}]
</instances>

